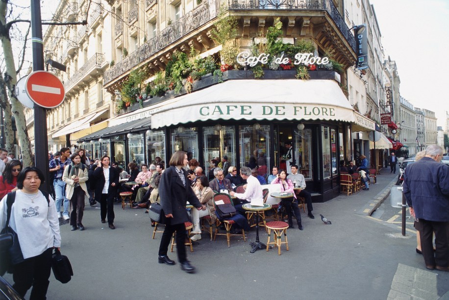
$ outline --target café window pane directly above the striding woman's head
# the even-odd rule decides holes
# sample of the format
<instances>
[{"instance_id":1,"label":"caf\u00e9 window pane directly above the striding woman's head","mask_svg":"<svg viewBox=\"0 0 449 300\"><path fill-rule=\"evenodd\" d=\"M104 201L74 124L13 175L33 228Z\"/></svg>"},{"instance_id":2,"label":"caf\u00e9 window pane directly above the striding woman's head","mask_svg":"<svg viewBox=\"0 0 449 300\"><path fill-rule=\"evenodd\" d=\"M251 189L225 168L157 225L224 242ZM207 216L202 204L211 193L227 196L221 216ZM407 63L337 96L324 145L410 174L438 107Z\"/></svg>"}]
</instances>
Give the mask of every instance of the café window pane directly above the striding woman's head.
<instances>
[{"instance_id":1,"label":"caf\u00e9 window pane directly above the striding woman's head","mask_svg":"<svg viewBox=\"0 0 449 300\"><path fill-rule=\"evenodd\" d=\"M198 132L196 127L178 127L170 130L170 140L172 143L172 153L184 151L187 159L199 159Z\"/></svg>"}]
</instances>

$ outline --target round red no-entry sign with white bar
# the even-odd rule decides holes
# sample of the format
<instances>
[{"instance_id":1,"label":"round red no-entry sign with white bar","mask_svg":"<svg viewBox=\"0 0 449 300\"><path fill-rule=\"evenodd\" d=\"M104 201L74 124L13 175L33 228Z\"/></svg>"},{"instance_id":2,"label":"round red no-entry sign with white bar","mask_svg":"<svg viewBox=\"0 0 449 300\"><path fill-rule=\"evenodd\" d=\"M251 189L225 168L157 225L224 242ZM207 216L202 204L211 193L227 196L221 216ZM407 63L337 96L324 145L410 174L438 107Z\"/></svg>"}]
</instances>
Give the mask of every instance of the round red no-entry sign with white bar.
<instances>
[{"instance_id":1,"label":"round red no-entry sign with white bar","mask_svg":"<svg viewBox=\"0 0 449 300\"><path fill-rule=\"evenodd\" d=\"M31 100L45 108L55 108L64 101L64 85L58 77L47 71L35 71L28 75L25 90Z\"/></svg>"}]
</instances>

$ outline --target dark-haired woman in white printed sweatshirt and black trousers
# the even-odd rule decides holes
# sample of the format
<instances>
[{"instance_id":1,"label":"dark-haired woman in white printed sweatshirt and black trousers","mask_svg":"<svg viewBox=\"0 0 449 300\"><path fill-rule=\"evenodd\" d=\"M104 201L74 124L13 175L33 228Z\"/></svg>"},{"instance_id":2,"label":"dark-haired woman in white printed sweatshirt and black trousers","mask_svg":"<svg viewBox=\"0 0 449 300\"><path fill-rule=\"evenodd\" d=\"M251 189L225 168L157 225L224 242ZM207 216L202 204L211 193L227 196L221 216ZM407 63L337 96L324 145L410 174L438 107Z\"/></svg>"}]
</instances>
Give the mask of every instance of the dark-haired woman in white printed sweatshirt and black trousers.
<instances>
[{"instance_id":1,"label":"dark-haired woman in white printed sweatshirt and black trousers","mask_svg":"<svg viewBox=\"0 0 449 300\"><path fill-rule=\"evenodd\" d=\"M46 299L53 248L61 247L59 221L52 198L39 190L44 174L36 167L26 167L17 177L15 201L11 207L9 227L20 241L24 260L14 265L13 288L25 297L32 287L30 299ZM0 202L0 228L7 220L7 196ZM26 217L24 217L24 215Z\"/></svg>"}]
</instances>

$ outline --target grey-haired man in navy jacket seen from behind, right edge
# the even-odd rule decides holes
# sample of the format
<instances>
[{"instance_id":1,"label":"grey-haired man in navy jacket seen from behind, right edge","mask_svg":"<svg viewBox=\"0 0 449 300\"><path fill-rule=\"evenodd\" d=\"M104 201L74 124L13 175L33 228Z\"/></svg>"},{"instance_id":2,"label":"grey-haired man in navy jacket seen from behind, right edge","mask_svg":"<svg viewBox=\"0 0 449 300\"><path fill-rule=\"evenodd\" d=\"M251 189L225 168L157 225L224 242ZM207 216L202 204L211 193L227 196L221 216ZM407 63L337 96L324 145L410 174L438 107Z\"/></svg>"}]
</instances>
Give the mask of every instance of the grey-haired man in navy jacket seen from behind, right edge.
<instances>
[{"instance_id":1,"label":"grey-haired man in navy jacket seen from behind, right edge","mask_svg":"<svg viewBox=\"0 0 449 300\"><path fill-rule=\"evenodd\" d=\"M407 166L403 192L421 235L425 267L449 272L449 166L442 158L440 146L428 146L424 158Z\"/></svg>"}]
</instances>

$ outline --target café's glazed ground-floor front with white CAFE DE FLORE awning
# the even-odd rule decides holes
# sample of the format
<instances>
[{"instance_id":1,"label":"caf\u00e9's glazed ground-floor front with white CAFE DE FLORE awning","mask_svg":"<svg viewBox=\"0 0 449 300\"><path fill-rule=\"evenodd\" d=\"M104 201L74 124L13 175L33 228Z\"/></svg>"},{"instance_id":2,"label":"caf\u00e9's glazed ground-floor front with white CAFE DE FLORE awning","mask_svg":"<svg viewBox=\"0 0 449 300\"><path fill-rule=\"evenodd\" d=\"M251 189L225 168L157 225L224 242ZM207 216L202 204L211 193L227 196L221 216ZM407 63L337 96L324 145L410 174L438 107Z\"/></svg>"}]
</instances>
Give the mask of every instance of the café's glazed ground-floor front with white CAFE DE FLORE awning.
<instances>
[{"instance_id":1,"label":"caf\u00e9's glazed ground-floor front with white CAFE DE FLORE awning","mask_svg":"<svg viewBox=\"0 0 449 300\"><path fill-rule=\"evenodd\" d=\"M309 80L285 71L266 71L263 79L244 70L223 75L222 83L200 80L191 93L151 98L79 142L121 164L157 156L168 162L182 150L206 171L212 159L227 156L238 169L258 167L267 177L273 166L285 167L289 141L313 201L338 195L339 162L352 159L351 133L374 131L375 124L353 110L338 73L316 71Z\"/></svg>"}]
</instances>

